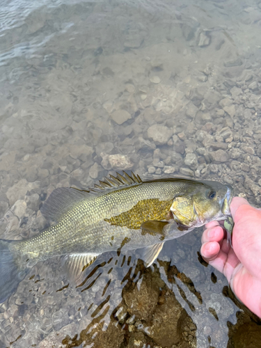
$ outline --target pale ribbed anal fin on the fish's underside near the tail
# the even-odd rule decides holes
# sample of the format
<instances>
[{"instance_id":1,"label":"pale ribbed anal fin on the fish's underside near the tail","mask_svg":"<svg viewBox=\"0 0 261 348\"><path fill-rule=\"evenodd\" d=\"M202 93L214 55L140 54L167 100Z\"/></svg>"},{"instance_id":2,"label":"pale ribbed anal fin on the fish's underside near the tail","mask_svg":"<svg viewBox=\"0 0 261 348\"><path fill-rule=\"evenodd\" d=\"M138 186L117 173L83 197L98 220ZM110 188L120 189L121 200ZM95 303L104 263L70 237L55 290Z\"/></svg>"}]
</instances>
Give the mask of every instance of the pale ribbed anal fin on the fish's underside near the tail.
<instances>
[{"instance_id":1,"label":"pale ribbed anal fin on the fish's underside near the tail","mask_svg":"<svg viewBox=\"0 0 261 348\"><path fill-rule=\"evenodd\" d=\"M90 266L99 254L72 254L63 259L63 266L70 281L79 285L83 281L84 270Z\"/></svg>"}]
</instances>

